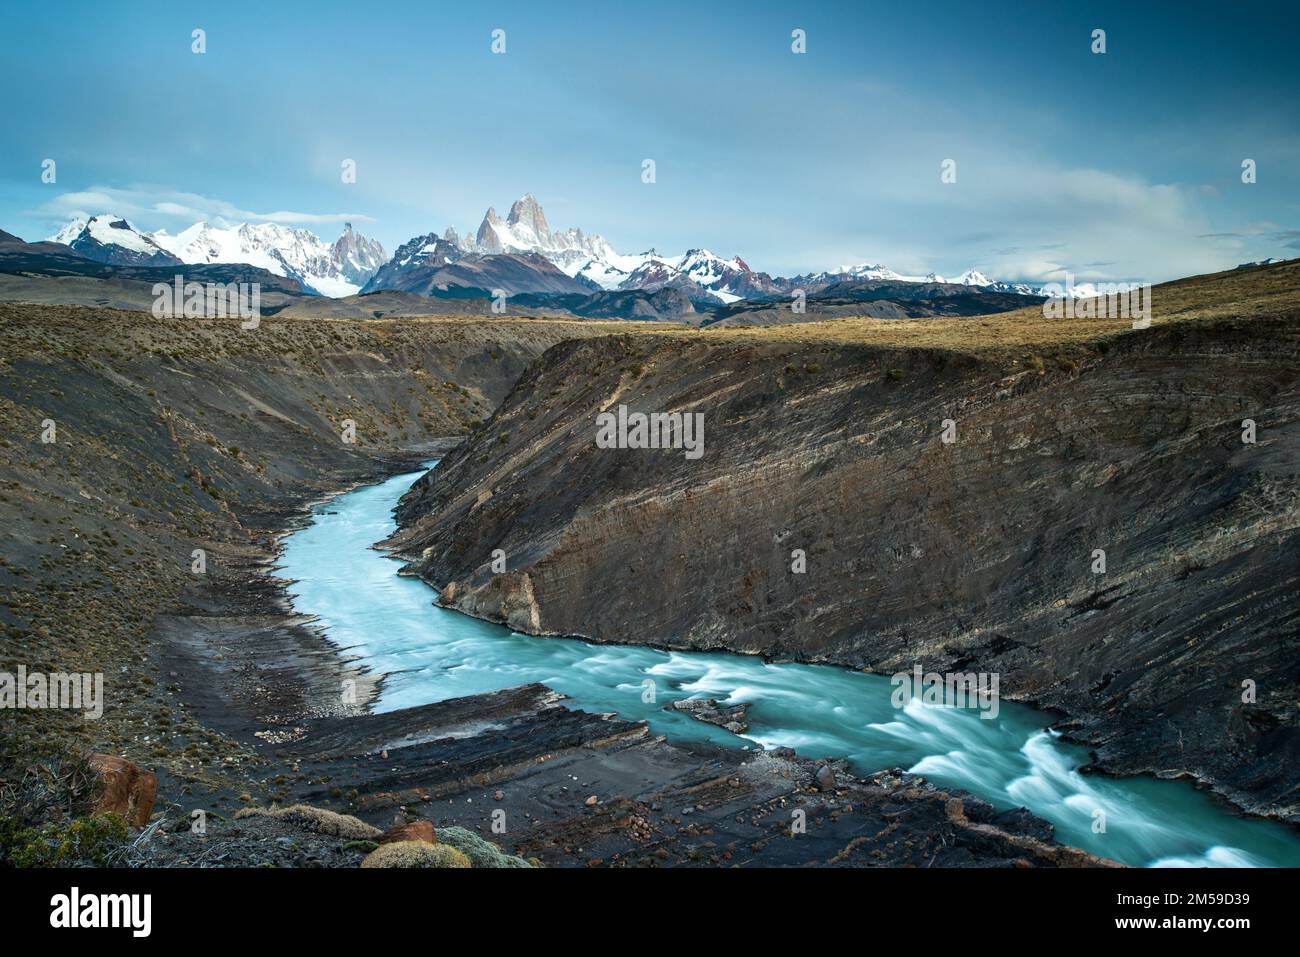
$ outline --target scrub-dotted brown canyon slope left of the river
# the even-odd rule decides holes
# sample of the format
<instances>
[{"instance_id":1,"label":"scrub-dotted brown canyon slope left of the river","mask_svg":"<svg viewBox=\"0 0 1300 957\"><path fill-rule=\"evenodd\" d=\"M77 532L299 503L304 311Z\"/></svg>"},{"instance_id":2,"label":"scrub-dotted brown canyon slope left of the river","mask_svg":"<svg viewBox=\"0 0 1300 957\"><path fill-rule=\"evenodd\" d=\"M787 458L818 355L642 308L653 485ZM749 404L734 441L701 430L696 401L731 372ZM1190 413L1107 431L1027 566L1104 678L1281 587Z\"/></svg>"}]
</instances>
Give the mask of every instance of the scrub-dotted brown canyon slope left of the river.
<instances>
[{"instance_id":1,"label":"scrub-dotted brown canyon slope left of the river","mask_svg":"<svg viewBox=\"0 0 1300 957\"><path fill-rule=\"evenodd\" d=\"M468 432L549 346L597 330L274 319L246 330L0 306L0 670L103 672L107 698L99 722L5 710L0 765L65 742L157 761L204 741L169 716L159 615L209 607L222 588L256 592L251 555L304 503L410 468L419 459L403 450Z\"/></svg>"}]
</instances>

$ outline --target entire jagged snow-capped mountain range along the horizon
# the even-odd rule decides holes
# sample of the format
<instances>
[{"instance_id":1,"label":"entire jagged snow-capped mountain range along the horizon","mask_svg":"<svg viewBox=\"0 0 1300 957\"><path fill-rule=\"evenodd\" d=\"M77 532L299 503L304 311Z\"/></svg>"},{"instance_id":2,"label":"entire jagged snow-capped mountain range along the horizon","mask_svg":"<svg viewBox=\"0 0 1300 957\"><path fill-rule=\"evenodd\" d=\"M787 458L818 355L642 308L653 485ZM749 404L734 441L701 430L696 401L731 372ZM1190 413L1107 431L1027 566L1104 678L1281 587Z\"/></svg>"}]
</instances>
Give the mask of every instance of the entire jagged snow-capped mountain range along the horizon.
<instances>
[{"instance_id":1,"label":"entire jagged snow-capped mountain range along the horizon","mask_svg":"<svg viewBox=\"0 0 1300 957\"><path fill-rule=\"evenodd\" d=\"M504 218L489 208L472 234L448 226L441 234L413 237L386 257L384 247L344 226L328 244L306 229L273 222L217 226L199 222L172 235L166 230L142 233L126 220L101 215L74 220L51 242L64 243L82 255L118 265L176 265L247 263L277 276L299 281L304 290L339 298L381 290L426 296L523 294L580 296L618 293L659 293L660 303L690 303L697 309L716 311L741 300L788 298L802 290L816 295L846 291L846 283L889 282L962 286L971 291L1041 295L1024 283L991 280L968 269L953 280L931 273L906 276L878 263L840 267L836 270L794 277L758 272L734 256L724 259L706 248L682 255L656 250L625 255L602 235L571 228L552 230L533 194L517 199ZM602 308L621 308L619 296L602 296ZM636 309L646 308L640 295Z\"/></svg>"}]
</instances>

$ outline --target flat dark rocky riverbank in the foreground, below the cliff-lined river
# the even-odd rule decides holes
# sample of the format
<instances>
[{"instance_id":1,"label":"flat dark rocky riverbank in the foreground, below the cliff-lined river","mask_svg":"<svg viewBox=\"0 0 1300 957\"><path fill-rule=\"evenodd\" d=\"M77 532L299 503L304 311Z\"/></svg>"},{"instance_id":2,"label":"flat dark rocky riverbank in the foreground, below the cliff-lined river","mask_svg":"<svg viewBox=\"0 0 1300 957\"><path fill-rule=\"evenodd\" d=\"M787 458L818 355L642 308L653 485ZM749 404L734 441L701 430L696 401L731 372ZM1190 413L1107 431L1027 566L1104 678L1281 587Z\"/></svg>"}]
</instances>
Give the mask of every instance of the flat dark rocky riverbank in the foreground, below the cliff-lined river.
<instances>
[{"instance_id":1,"label":"flat dark rocky riverbank in the foreground, below the cliff-lined river","mask_svg":"<svg viewBox=\"0 0 1300 957\"><path fill-rule=\"evenodd\" d=\"M286 532L312 507L287 512ZM278 549L282 537L273 541ZM278 560L265 551L255 567L269 572ZM424 818L464 826L547 866L1106 863L1057 844L1050 826L1024 811L997 811L916 776L858 778L844 762L790 749L670 744L644 722L573 710L540 684L382 714L339 707L339 683L364 666L295 615L290 584L250 576L204 614L165 625L179 694L247 749L243 771L264 787L187 794L151 863L351 859L342 839L277 832L287 843L272 849L251 840L250 827L276 826L234 813L272 801L378 827ZM196 806L212 814L203 837L183 826ZM498 811L503 830L494 832ZM286 858L290 845L298 858Z\"/></svg>"}]
</instances>

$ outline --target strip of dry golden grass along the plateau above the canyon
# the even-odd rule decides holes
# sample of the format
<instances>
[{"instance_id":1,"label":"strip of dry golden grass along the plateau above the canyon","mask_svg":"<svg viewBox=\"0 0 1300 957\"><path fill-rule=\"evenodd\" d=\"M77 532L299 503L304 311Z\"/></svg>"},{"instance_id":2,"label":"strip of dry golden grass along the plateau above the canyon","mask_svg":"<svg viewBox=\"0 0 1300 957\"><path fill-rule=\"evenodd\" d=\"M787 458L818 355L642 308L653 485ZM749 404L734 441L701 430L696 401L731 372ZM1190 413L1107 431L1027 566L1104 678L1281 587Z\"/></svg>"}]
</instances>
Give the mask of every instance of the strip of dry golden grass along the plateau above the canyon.
<instances>
[{"instance_id":1,"label":"strip of dry golden grass along the plateau above the canyon","mask_svg":"<svg viewBox=\"0 0 1300 957\"><path fill-rule=\"evenodd\" d=\"M1284 316L1300 312L1300 260L1277 265L1230 269L1154 286L1152 324L1222 317ZM104 326L104 322L110 322ZM451 338L510 339L542 335L551 341L597 335L670 337L725 343L844 343L885 347L1015 351L1027 347L1074 346L1121 335L1128 319L1046 319L1041 307L989 316L936 319L833 319L768 326L696 329L676 322L566 320L542 317L410 316L399 319L276 319L263 320L261 334L250 334L234 320L159 320L148 313L72 306L0 306L0 328L9 355L22 355L23 341L38 351L64 352L72 346L95 354L101 348L125 354L199 351L240 355L287 350L315 351L364 347L394 338L447 341ZM104 339L105 328L112 329ZM174 354L174 352L173 352Z\"/></svg>"}]
</instances>

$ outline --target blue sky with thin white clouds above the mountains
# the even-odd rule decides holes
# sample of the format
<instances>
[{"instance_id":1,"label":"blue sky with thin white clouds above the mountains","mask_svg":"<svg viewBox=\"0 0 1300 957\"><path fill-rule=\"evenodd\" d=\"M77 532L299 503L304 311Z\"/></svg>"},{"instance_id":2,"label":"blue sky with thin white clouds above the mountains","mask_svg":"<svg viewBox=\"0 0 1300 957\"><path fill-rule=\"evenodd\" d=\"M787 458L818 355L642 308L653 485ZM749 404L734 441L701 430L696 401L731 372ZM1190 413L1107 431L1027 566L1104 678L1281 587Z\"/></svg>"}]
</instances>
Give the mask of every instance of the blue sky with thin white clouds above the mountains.
<instances>
[{"instance_id":1,"label":"blue sky with thin white clouds above the mountains","mask_svg":"<svg viewBox=\"0 0 1300 957\"><path fill-rule=\"evenodd\" d=\"M1160 282L1300 255L1296 4L5 0L0 17L0 229L25 239L113 212L326 241L352 222L391 252L533 192L552 229L620 252L705 247L781 276Z\"/></svg>"}]
</instances>

